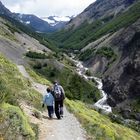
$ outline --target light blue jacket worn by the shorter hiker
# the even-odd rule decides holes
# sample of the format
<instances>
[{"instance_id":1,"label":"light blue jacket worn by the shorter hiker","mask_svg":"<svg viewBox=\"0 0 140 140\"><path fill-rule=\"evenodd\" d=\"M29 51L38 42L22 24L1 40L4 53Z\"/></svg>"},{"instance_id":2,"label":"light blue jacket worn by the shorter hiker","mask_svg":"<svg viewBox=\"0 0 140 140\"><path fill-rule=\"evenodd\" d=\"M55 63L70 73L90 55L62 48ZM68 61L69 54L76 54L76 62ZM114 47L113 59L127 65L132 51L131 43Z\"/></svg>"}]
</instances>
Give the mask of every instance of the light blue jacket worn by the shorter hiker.
<instances>
[{"instance_id":1,"label":"light blue jacket worn by the shorter hiker","mask_svg":"<svg viewBox=\"0 0 140 140\"><path fill-rule=\"evenodd\" d=\"M47 106L53 106L54 104L54 97L51 94L51 92L47 92L45 93L44 97L43 97L43 103Z\"/></svg>"}]
</instances>

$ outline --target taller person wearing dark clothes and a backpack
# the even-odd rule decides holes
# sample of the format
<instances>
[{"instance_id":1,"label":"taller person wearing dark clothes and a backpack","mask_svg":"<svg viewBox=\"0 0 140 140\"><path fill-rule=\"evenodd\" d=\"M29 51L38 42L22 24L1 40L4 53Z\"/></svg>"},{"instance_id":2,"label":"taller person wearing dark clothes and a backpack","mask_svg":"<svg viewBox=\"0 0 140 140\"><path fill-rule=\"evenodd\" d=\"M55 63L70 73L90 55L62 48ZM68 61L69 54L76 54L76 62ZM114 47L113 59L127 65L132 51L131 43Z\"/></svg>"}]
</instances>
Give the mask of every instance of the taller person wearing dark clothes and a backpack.
<instances>
[{"instance_id":1,"label":"taller person wearing dark clothes and a backpack","mask_svg":"<svg viewBox=\"0 0 140 140\"><path fill-rule=\"evenodd\" d=\"M57 81L54 82L53 95L55 100L55 114L58 119L63 117L63 102L65 99L65 92L61 85Z\"/></svg>"}]
</instances>

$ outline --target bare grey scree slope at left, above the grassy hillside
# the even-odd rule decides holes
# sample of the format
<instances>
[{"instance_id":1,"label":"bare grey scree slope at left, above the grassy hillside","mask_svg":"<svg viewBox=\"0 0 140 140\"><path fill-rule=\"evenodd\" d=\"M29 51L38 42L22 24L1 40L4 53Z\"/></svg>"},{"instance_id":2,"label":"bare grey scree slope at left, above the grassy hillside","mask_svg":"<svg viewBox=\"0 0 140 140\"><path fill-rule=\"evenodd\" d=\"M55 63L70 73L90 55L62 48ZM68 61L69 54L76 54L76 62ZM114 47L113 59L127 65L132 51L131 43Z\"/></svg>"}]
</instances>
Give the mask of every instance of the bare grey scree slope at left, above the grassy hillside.
<instances>
[{"instance_id":1,"label":"bare grey scree slope at left, above the grassy hillside","mask_svg":"<svg viewBox=\"0 0 140 140\"><path fill-rule=\"evenodd\" d=\"M8 26L6 26L7 23L9 22L0 18L0 52L14 63L24 64L24 56L29 50L41 53L44 51L51 52L47 47L41 45L39 41L27 34L11 32Z\"/></svg>"}]
</instances>

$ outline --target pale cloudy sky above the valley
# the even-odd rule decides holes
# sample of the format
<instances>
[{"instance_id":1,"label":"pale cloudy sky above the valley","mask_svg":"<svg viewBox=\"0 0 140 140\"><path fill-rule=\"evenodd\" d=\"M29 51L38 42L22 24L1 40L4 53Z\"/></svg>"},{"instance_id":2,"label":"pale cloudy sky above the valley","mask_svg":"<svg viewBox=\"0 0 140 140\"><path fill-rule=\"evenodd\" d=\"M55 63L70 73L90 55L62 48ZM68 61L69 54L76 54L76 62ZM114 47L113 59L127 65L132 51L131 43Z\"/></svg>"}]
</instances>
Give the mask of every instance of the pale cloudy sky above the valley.
<instances>
[{"instance_id":1,"label":"pale cloudy sky above the valley","mask_svg":"<svg viewBox=\"0 0 140 140\"><path fill-rule=\"evenodd\" d=\"M81 13L95 0L1 0L12 12L44 16L71 16Z\"/></svg>"}]
</instances>

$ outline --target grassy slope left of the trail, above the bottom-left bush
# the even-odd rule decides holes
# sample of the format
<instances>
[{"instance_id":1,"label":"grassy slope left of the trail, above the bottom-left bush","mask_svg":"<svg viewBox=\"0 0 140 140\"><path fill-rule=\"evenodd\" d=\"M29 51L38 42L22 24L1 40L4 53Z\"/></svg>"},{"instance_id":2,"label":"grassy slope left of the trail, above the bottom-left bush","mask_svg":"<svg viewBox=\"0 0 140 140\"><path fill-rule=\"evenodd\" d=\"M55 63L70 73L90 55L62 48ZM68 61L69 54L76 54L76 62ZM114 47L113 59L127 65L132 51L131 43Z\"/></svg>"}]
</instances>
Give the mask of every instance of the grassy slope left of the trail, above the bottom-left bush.
<instances>
[{"instance_id":1,"label":"grassy slope left of the trail, above the bottom-left bush","mask_svg":"<svg viewBox=\"0 0 140 140\"><path fill-rule=\"evenodd\" d=\"M22 77L15 64L0 55L0 86L3 101L16 105L18 101L40 108L42 96L31 88L31 83ZM16 86L15 86L16 85Z\"/></svg>"}]
</instances>

